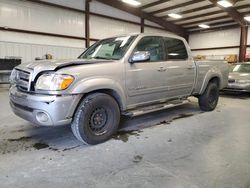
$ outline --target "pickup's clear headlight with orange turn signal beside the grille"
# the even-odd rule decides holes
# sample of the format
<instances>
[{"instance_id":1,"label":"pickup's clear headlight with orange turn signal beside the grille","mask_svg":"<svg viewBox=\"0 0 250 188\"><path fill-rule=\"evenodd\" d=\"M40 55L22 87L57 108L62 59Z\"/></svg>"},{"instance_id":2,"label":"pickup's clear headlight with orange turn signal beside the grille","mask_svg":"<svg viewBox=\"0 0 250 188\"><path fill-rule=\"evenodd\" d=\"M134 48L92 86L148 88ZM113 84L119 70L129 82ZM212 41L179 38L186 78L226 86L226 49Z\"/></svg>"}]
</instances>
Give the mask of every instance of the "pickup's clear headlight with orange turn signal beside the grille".
<instances>
[{"instance_id":1,"label":"pickup's clear headlight with orange turn signal beside the grille","mask_svg":"<svg viewBox=\"0 0 250 188\"><path fill-rule=\"evenodd\" d=\"M41 75L35 85L36 90L59 91L67 89L74 77L66 74L46 73Z\"/></svg>"}]
</instances>

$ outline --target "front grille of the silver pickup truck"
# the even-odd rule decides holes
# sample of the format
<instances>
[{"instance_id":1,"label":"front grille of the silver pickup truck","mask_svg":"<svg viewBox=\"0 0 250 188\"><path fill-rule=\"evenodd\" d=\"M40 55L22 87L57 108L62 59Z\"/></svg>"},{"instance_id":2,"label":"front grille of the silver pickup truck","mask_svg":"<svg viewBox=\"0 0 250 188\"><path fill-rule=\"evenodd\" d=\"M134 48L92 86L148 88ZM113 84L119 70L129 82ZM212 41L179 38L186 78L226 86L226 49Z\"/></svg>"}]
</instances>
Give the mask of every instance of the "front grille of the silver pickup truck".
<instances>
[{"instance_id":1,"label":"front grille of the silver pickup truck","mask_svg":"<svg viewBox=\"0 0 250 188\"><path fill-rule=\"evenodd\" d=\"M30 72L21 69L16 69L16 86L23 91L30 90Z\"/></svg>"}]
</instances>

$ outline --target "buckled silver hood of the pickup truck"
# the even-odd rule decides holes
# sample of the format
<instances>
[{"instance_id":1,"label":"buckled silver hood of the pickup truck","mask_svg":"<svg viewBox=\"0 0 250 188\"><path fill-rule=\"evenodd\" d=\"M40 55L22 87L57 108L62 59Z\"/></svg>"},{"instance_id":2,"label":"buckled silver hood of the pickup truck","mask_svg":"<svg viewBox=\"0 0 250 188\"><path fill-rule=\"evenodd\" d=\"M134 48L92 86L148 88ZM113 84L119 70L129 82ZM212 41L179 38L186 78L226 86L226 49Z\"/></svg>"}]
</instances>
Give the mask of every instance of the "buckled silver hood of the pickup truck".
<instances>
[{"instance_id":1,"label":"buckled silver hood of the pickup truck","mask_svg":"<svg viewBox=\"0 0 250 188\"><path fill-rule=\"evenodd\" d=\"M62 60L41 60L32 61L19 65L19 68L32 70L35 74L42 71L53 71L63 67L75 66L75 65L87 65L96 63L107 63L112 62L110 60L99 60L99 59L62 59Z\"/></svg>"}]
</instances>

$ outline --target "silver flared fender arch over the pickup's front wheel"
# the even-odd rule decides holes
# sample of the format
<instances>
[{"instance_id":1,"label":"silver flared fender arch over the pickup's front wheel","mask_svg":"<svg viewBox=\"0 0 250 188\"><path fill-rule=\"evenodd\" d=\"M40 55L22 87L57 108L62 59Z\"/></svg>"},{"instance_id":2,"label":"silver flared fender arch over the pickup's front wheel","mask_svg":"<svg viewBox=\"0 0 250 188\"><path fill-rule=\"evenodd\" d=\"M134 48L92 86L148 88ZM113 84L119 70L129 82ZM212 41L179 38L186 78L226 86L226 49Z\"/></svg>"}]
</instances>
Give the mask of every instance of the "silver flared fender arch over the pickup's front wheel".
<instances>
[{"instance_id":1,"label":"silver flared fender arch over the pickup's front wheel","mask_svg":"<svg viewBox=\"0 0 250 188\"><path fill-rule=\"evenodd\" d=\"M78 81L72 88L72 93L85 94L97 90L111 90L115 92L116 98L118 97L119 100L118 102L120 103L122 110L125 109L126 96L124 93L124 89L121 83L111 78L99 77L99 78L89 78Z\"/></svg>"}]
</instances>

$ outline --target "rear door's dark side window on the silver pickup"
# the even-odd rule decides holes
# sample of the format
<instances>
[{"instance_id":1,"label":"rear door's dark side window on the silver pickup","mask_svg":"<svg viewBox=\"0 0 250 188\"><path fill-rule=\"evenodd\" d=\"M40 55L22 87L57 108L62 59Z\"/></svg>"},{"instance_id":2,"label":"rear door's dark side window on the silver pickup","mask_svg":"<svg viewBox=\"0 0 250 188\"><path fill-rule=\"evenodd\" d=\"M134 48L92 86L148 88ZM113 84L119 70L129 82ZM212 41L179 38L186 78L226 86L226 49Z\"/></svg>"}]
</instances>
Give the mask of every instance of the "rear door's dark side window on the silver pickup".
<instances>
[{"instance_id":1,"label":"rear door's dark side window on the silver pickup","mask_svg":"<svg viewBox=\"0 0 250 188\"><path fill-rule=\"evenodd\" d=\"M167 60L186 60L188 58L186 46L182 40L164 38Z\"/></svg>"}]
</instances>

